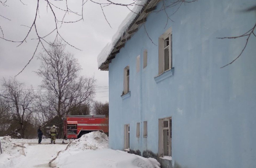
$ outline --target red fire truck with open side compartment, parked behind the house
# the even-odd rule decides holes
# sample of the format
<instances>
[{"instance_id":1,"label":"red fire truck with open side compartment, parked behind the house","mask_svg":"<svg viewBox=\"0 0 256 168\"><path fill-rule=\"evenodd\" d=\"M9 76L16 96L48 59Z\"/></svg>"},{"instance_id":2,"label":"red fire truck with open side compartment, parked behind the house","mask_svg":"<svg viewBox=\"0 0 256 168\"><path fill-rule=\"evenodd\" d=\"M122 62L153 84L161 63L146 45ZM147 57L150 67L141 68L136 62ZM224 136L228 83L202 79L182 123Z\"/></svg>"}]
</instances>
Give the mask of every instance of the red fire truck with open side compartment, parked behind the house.
<instances>
[{"instance_id":1,"label":"red fire truck with open side compartment, parked behind the house","mask_svg":"<svg viewBox=\"0 0 256 168\"><path fill-rule=\"evenodd\" d=\"M108 118L105 115L67 115L63 121L64 138L76 139L92 131L108 134Z\"/></svg>"}]
</instances>

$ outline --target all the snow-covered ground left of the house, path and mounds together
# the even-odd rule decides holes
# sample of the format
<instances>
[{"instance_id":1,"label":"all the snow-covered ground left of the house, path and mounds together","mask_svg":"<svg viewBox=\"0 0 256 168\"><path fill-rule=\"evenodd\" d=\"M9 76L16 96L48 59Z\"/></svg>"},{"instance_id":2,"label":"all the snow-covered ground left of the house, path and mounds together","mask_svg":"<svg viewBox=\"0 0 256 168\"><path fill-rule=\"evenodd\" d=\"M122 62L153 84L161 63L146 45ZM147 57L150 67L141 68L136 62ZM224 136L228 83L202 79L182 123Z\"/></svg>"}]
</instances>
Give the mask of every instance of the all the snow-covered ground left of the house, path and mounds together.
<instances>
[{"instance_id":1,"label":"all the snow-covered ground left of the house, path and mounds together","mask_svg":"<svg viewBox=\"0 0 256 168\"><path fill-rule=\"evenodd\" d=\"M49 139L44 139L49 142ZM99 131L91 132L70 144L36 144L34 140L0 137L3 154L0 168L159 168L153 158L144 158L120 150L108 149L108 137ZM43 141L42 141L43 142ZM60 141L62 142L62 140ZM69 142L69 141L68 141ZM25 144L24 144L25 143ZM29 144L27 144L29 143Z\"/></svg>"}]
</instances>

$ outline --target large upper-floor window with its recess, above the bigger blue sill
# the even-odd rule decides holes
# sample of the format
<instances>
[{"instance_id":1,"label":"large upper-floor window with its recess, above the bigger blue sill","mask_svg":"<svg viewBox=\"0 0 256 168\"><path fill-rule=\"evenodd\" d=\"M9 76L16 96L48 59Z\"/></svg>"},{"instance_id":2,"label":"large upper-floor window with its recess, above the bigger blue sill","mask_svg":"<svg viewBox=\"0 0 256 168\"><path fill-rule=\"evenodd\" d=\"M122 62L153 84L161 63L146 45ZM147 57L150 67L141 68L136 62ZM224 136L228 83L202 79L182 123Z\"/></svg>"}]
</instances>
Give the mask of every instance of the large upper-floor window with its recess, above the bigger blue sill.
<instances>
[{"instance_id":1,"label":"large upper-floor window with its recess, above the bigger blue sill","mask_svg":"<svg viewBox=\"0 0 256 168\"><path fill-rule=\"evenodd\" d=\"M158 39L158 74L172 68L172 28Z\"/></svg>"}]
</instances>

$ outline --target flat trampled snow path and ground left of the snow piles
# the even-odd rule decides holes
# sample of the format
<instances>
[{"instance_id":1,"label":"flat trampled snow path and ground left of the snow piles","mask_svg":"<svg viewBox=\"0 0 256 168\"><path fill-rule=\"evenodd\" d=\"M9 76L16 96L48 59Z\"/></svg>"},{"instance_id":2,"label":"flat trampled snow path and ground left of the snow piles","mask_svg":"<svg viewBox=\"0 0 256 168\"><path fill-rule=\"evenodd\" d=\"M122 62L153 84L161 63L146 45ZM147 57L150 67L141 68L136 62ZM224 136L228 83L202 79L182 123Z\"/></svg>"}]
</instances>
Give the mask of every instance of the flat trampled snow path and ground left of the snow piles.
<instances>
[{"instance_id":1,"label":"flat trampled snow path and ground left of the snow piles","mask_svg":"<svg viewBox=\"0 0 256 168\"><path fill-rule=\"evenodd\" d=\"M16 140L10 137L0 137L3 152L0 154L1 168L49 167L49 161L56 156L58 151L64 150L67 146L67 144L23 145L22 143L29 141L19 139L19 143Z\"/></svg>"}]
</instances>

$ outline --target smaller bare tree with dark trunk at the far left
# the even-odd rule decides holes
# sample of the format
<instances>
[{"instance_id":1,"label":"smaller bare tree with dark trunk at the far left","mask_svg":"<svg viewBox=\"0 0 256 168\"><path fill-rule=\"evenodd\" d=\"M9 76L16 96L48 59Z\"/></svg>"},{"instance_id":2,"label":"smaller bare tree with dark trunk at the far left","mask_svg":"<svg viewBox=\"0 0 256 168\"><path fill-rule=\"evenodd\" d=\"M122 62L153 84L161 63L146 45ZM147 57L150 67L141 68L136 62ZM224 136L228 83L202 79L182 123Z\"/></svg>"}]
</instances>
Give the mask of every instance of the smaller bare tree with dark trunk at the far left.
<instances>
[{"instance_id":1,"label":"smaller bare tree with dark trunk at the far left","mask_svg":"<svg viewBox=\"0 0 256 168\"><path fill-rule=\"evenodd\" d=\"M36 99L33 88L25 87L15 78L3 79L3 93L0 94L10 106L10 121L16 121L21 130L21 137L24 138L25 129L32 116L32 107Z\"/></svg>"}]
</instances>

